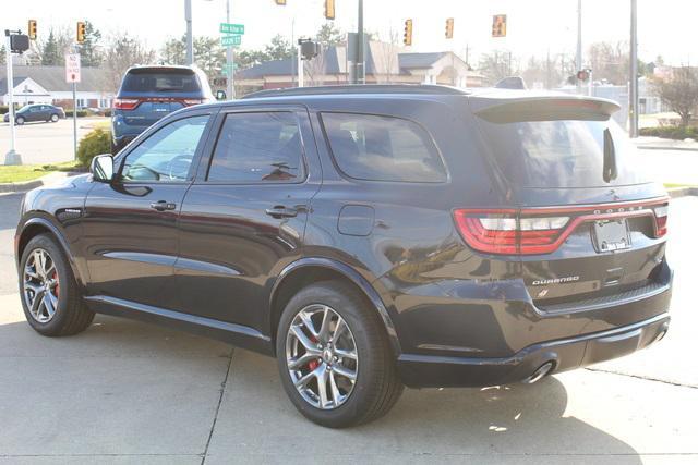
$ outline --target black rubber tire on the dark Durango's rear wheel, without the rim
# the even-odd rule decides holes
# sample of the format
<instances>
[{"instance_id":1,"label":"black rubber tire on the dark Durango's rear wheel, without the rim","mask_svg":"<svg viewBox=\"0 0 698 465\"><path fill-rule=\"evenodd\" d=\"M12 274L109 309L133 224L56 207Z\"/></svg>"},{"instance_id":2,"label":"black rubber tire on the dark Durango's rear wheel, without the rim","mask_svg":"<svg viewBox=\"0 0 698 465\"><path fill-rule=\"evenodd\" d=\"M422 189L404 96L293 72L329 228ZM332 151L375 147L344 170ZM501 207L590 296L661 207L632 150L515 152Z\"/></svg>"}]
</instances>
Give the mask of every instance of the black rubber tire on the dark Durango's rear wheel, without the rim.
<instances>
[{"instance_id":1,"label":"black rubber tire on the dark Durango's rear wheel, without the rim","mask_svg":"<svg viewBox=\"0 0 698 465\"><path fill-rule=\"evenodd\" d=\"M287 367L286 340L293 318L314 304L330 307L349 327L359 357L353 390L332 409L306 402L296 389ZM276 353L281 383L296 408L310 420L329 428L346 428L385 415L397 402L404 386L378 313L352 285L323 281L302 289L286 305L278 326Z\"/></svg>"}]
</instances>

